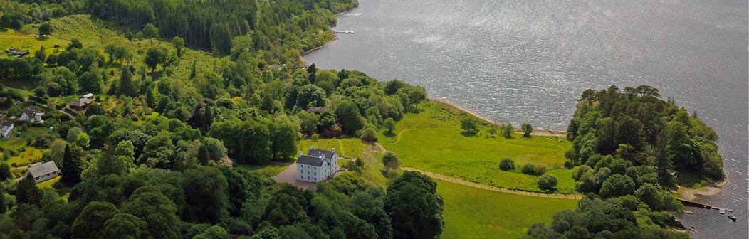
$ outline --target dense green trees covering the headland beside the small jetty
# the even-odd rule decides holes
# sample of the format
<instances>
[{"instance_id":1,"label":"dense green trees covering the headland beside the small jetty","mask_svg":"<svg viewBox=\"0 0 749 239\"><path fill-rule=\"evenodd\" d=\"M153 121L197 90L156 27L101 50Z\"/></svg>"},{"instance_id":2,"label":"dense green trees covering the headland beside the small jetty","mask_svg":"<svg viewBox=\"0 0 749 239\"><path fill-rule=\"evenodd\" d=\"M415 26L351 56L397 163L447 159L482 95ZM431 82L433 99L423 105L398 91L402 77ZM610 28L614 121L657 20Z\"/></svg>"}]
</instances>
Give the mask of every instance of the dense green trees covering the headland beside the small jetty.
<instances>
[{"instance_id":1,"label":"dense green trees covering the headland beside the small jetty","mask_svg":"<svg viewBox=\"0 0 749 239\"><path fill-rule=\"evenodd\" d=\"M689 238L664 230L678 228L684 210L670 190L682 178L724 178L718 136L696 113L659 97L649 85L583 91L566 157L577 191L588 194L527 238Z\"/></svg>"}]
</instances>

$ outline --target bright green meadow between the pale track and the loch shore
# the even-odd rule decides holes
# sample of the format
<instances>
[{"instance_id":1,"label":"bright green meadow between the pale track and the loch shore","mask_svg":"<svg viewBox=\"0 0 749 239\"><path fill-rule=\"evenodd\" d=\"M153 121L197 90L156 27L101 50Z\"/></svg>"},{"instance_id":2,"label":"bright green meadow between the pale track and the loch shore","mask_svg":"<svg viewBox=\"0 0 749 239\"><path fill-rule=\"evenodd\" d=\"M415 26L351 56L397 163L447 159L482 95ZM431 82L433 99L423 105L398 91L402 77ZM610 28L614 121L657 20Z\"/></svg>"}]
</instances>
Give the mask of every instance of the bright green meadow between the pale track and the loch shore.
<instances>
[{"instance_id":1,"label":"bright green meadow between the pale track and the loch shore","mask_svg":"<svg viewBox=\"0 0 749 239\"><path fill-rule=\"evenodd\" d=\"M558 193L573 192L571 170L563 167L564 153L571 148L571 142L561 136L523 138L515 134L513 139L490 136L486 133L488 122L483 122L479 134L466 134L459 128L463 117L472 116L441 104L425 103L419 114L407 114L398 122L395 135L383 134L379 139L387 150L398 154L401 166L480 184L539 192L537 177L524 175L520 169L527 163L542 164L559 179ZM499 169L503 157L515 160L515 171Z\"/></svg>"}]
</instances>

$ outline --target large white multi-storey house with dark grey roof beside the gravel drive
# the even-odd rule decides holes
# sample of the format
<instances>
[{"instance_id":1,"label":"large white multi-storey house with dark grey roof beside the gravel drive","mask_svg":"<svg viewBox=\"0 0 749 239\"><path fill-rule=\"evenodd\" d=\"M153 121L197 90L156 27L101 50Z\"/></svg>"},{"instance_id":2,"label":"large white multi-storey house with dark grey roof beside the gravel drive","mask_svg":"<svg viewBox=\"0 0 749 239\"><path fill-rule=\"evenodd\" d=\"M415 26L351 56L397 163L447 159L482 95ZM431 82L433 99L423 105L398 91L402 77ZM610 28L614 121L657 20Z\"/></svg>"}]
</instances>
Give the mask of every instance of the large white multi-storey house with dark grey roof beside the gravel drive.
<instances>
[{"instance_id":1,"label":"large white multi-storey house with dark grey roof beside the gravel drive","mask_svg":"<svg viewBox=\"0 0 749 239\"><path fill-rule=\"evenodd\" d=\"M327 151L309 146L309 153L299 152L297 159L297 179L308 182L325 181L338 170L336 149Z\"/></svg>"}]
</instances>

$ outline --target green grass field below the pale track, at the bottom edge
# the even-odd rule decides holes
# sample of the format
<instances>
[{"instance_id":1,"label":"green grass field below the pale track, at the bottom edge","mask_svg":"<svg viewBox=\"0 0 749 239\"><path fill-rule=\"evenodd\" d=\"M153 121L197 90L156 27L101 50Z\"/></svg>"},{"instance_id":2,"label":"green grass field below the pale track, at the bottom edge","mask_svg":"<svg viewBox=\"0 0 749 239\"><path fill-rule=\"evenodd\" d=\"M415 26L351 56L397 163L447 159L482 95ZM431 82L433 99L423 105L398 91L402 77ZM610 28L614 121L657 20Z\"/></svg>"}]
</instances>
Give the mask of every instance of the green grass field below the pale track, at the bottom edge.
<instances>
[{"instance_id":1,"label":"green grass field below the pale track, at the bottom edge","mask_svg":"<svg viewBox=\"0 0 749 239\"><path fill-rule=\"evenodd\" d=\"M576 200L546 199L437 182L445 199L442 238L520 238L535 223L551 223L558 211L577 208Z\"/></svg>"}]
</instances>

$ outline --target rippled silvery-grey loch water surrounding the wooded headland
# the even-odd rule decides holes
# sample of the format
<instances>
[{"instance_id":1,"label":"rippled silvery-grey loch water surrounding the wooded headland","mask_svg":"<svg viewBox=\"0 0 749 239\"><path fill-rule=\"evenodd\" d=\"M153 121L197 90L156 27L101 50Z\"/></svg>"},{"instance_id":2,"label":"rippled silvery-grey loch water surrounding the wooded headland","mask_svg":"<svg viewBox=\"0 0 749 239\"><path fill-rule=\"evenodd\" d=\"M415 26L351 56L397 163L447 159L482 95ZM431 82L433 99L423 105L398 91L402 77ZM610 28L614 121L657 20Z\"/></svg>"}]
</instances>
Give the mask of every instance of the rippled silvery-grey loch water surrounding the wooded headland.
<instances>
[{"instance_id":1,"label":"rippled silvery-grey loch water surrounding the wooded headland","mask_svg":"<svg viewBox=\"0 0 749 239\"><path fill-rule=\"evenodd\" d=\"M694 238L748 238L749 31L745 0L360 0L322 69L401 79L497 121L565 130L586 88L652 85L720 136L729 183L688 208Z\"/></svg>"}]
</instances>

